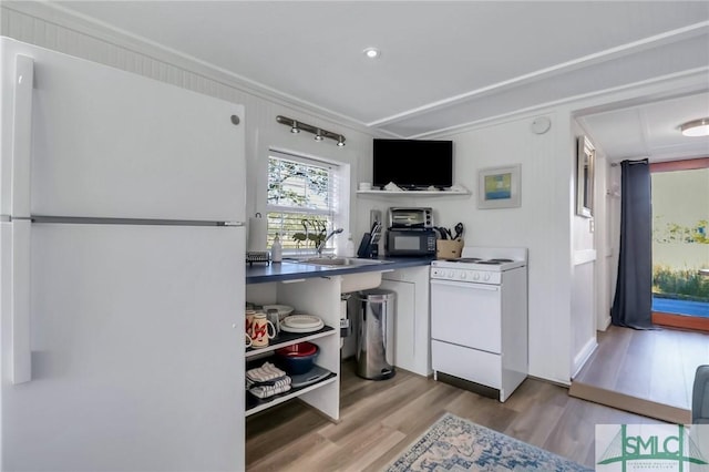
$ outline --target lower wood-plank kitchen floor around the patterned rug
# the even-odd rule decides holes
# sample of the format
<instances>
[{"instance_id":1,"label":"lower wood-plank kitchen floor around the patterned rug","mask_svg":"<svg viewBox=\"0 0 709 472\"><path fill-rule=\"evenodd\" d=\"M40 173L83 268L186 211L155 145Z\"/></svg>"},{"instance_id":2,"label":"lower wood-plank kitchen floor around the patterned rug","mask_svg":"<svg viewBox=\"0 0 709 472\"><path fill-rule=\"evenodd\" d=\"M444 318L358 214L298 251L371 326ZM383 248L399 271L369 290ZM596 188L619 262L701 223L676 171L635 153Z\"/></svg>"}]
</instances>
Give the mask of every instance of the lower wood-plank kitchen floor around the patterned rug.
<instances>
[{"instance_id":1,"label":"lower wood-plank kitchen floor around the patterned rug","mask_svg":"<svg viewBox=\"0 0 709 472\"><path fill-rule=\"evenodd\" d=\"M248 471L379 471L444 412L470 419L593 468L597 423L657 423L572 398L567 389L527 379L505 402L403 370L384 381L342 365L340 422L299 401L249 417Z\"/></svg>"}]
</instances>

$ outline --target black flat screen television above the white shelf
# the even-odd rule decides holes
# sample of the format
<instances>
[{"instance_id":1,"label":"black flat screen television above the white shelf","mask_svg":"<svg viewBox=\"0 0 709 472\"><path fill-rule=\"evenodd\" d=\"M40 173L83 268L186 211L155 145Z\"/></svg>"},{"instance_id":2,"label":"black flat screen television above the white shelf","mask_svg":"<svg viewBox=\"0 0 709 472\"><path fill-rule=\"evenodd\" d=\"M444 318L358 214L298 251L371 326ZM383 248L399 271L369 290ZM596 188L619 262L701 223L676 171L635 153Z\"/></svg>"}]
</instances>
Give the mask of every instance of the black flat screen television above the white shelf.
<instances>
[{"instance_id":1,"label":"black flat screen television above the white shelf","mask_svg":"<svg viewBox=\"0 0 709 472\"><path fill-rule=\"evenodd\" d=\"M401 188L427 189L453 185L453 142L374 140L372 185L393 182Z\"/></svg>"}]
</instances>

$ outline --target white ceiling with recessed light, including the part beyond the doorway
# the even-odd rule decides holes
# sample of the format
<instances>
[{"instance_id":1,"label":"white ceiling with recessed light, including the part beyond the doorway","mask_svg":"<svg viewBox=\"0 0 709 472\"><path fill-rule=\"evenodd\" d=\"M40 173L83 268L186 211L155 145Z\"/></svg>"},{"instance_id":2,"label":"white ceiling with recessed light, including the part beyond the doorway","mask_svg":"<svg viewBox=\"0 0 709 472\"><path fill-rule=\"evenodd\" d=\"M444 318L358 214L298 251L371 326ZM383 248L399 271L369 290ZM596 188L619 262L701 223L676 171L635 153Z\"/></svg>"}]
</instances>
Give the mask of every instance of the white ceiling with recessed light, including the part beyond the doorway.
<instances>
[{"instance_id":1,"label":"white ceiling with recessed light, including the part beyond the doorway","mask_svg":"<svg viewBox=\"0 0 709 472\"><path fill-rule=\"evenodd\" d=\"M580 119L612 160L709 155L709 1L61 1L52 6L379 135L422 137L658 76L671 100ZM368 60L362 50L382 55ZM687 140L687 138L684 138ZM698 153L698 154L697 154ZM668 157L670 156L670 157Z\"/></svg>"}]
</instances>

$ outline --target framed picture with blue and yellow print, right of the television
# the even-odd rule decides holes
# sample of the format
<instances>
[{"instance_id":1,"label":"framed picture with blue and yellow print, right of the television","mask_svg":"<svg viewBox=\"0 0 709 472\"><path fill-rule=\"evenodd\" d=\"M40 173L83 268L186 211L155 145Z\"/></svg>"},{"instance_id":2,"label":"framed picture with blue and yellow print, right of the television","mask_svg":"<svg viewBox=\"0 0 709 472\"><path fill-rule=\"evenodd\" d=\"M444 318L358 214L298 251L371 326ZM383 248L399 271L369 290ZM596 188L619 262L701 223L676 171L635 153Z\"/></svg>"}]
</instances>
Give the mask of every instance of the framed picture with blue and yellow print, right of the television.
<instances>
[{"instance_id":1,"label":"framed picture with blue and yellow print, right of the television","mask_svg":"<svg viewBox=\"0 0 709 472\"><path fill-rule=\"evenodd\" d=\"M477 208L521 206L520 164L483 168L477 178Z\"/></svg>"}]
</instances>

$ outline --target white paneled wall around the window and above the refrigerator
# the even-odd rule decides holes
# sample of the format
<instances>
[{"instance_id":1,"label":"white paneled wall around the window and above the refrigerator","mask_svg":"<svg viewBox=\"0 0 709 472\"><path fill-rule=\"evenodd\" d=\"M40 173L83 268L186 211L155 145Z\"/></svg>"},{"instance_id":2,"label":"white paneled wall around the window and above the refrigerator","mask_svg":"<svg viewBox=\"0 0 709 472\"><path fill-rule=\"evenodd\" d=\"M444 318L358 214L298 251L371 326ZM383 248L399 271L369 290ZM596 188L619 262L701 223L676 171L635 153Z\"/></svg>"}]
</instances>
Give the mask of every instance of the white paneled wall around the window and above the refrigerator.
<instances>
[{"instance_id":1,"label":"white paneled wall around the window and above the refrigerator","mask_svg":"<svg viewBox=\"0 0 709 472\"><path fill-rule=\"evenodd\" d=\"M39 2L3 4L0 7L0 21L2 35L244 104L248 215L264 213L267 153L271 146L349 165L352 192L354 185L351 184L357 181L359 161L371 161L372 136L367 132L308 113L289 103L261 96L246 90L243 84L237 84L228 74L191 58L83 22ZM343 134L347 145L338 147L330 140L317 143L308 133L294 135L287 126L276 123L279 114ZM349 225L345 225L349 227L346 228L346 234L348 230L354 233L354 228L359 226L367 226L369 217L367 222L359 223L354 219L356 216L352 214Z\"/></svg>"}]
</instances>

